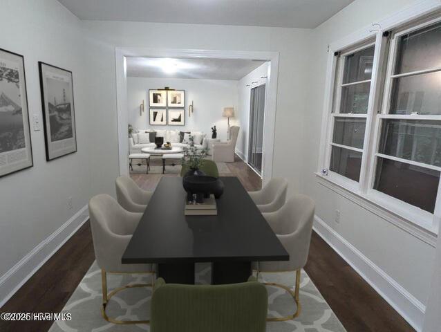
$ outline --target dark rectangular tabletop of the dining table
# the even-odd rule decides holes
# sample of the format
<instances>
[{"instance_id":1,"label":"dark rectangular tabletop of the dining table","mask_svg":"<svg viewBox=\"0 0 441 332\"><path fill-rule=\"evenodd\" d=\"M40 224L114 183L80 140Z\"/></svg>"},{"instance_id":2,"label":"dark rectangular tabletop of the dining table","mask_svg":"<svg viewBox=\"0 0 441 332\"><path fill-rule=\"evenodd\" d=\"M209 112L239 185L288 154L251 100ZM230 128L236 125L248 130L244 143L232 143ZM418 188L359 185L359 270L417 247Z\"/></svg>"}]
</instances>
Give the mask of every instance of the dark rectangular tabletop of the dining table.
<instances>
[{"instance_id":1,"label":"dark rectangular tabletop of the dining table","mask_svg":"<svg viewBox=\"0 0 441 332\"><path fill-rule=\"evenodd\" d=\"M236 177L217 216L185 216L180 177L162 177L122 256L122 264L283 261L289 255Z\"/></svg>"}]
</instances>

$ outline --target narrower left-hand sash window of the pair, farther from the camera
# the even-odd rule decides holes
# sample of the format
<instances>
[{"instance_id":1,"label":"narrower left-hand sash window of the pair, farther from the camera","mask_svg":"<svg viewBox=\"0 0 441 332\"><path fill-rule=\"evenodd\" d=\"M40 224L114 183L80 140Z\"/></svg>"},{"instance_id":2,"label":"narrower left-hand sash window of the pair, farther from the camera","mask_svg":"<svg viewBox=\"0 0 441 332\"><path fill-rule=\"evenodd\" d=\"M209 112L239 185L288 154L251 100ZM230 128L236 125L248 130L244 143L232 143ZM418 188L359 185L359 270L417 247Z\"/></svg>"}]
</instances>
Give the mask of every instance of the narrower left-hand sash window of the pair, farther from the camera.
<instances>
[{"instance_id":1,"label":"narrower left-hand sash window of the pair, farther from the camera","mask_svg":"<svg viewBox=\"0 0 441 332\"><path fill-rule=\"evenodd\" d=\"M359 181L372 78L372 43L339 55L329 169Z\"/></svg>"}]
</instances>

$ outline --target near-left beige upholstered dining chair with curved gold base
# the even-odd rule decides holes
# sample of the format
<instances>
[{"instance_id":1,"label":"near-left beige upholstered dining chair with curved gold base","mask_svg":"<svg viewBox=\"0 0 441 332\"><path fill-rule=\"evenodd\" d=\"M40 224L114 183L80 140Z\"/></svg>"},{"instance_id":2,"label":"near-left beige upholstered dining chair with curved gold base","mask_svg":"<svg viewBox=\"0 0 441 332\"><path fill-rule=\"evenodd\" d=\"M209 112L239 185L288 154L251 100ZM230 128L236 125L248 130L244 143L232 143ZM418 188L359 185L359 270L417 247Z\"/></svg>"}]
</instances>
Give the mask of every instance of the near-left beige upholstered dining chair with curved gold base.
<instances>
[{"instance_id":1,"label":"near-left beige upholstered dining chair with curved gold base","mask_svg":"<svg viewBox=\"0 0 441 332\"><path fill-rule=\"evenodd\" d=\"M115 199L107 194L94 196L88 205L93 248L102 275L102 316L114 324L141 324L142 321L122 321L106 314L106 305L116 293L131 287L153 286L153 266L151 264L122 264L121 257L126 250L133 231L138 225L142 213L124 210ZM115 288L107 293L107 273L145 273L151 274L152 284L131 284Z\"/></svg>"}]
</instances>

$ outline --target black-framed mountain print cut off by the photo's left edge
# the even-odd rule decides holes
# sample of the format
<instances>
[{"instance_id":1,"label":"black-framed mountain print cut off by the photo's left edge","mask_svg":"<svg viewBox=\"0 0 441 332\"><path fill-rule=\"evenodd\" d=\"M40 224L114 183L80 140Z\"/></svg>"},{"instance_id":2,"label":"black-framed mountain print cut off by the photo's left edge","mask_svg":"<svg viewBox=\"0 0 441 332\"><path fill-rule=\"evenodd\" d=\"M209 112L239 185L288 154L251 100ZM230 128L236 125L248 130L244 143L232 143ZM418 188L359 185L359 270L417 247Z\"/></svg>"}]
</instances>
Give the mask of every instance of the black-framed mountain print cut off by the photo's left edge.
<instances>
[{"instance_id":1,"label":"black-framed mountain print cut off by the photo's left edge","mask_svg":"<svg viewBox=\"0 0 441 332\"><path fill-rule=\"evenodd\" d=\"M32 166L24 57L0 49L0 176Z\"/></svg>"}]
</instances>

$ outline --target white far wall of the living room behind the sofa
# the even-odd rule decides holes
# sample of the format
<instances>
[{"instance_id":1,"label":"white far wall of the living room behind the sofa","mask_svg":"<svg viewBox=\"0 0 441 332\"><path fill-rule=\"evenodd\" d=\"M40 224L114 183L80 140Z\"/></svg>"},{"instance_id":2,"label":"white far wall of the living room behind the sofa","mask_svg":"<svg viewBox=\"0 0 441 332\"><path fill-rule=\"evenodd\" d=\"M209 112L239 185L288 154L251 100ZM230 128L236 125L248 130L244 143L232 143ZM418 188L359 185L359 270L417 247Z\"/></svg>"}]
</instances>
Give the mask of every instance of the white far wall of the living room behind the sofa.
<instances>
[{"instance_id":1,"label":"white far wall of the living room behind the sofa","mask_svg":"<svg viewBox=\"0 0 441 332\"><path fill-rule=\"evenodd\" d=\"M182 78L127 77L127 104L129 123L138 129L171 129L203 131L212 137L214 125L220 140L227 139L227 118L222 117L224 107L237 108L238 91L236 80L198 80ZM151 126L149 124L149 89L169 86L170 89L185 90L185 125ZM144 100L145 111L140 116L140 103ZM188 106L194 102L194 113L189 117ZM230 124L234 119L230 119Z\"/></svg>"}]
</instances>

